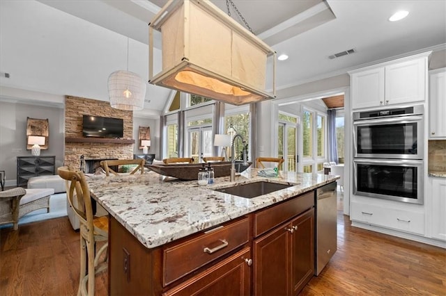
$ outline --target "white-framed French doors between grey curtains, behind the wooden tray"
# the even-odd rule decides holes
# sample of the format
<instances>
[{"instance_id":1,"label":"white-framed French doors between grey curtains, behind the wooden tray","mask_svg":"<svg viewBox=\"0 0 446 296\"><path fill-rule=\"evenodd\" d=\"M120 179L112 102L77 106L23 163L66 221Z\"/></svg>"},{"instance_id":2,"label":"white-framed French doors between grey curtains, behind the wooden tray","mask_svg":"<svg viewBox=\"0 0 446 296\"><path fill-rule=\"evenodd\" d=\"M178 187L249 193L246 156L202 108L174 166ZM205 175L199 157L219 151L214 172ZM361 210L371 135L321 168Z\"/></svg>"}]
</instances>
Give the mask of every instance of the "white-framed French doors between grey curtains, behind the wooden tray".
<instances>
[{"instance_id":1,"label":"white-framed French doors between grey curtains, behind the wooden tray","mask_svg":"<svg viewBox=\"0 0 446 296\"><path fill-rule=\"evenodd\" d=\"M212 126L191 127L189 131L189 154L194 163L203 162L203 157L212 156Z\"/></svg>"}]
</instances>

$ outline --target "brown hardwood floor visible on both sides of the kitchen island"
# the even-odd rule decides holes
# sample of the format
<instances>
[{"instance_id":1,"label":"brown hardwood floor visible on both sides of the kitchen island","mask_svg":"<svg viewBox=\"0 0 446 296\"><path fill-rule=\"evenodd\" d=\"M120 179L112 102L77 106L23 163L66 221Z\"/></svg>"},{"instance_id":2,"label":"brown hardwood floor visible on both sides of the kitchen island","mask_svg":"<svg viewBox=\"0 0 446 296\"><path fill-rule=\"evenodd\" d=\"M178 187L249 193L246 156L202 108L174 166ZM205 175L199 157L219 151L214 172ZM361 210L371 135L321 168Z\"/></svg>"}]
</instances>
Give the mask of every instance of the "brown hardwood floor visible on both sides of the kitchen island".
<instances>
[{"instance_id":1,"label":"brown hardwood floor visible on both sides of the kitchen island","mask_svg":"<svg viewBox=\"0 0 446 296\"><path fill-rule=\"evenodd\" d=\"M0 229L0 295L75 295L79 233L67 217ZM96 295L107 295L107 276ZM350 226L338 215L338 250L301 295L446 295L446 250Z\"/></svg>"}]
</instances>

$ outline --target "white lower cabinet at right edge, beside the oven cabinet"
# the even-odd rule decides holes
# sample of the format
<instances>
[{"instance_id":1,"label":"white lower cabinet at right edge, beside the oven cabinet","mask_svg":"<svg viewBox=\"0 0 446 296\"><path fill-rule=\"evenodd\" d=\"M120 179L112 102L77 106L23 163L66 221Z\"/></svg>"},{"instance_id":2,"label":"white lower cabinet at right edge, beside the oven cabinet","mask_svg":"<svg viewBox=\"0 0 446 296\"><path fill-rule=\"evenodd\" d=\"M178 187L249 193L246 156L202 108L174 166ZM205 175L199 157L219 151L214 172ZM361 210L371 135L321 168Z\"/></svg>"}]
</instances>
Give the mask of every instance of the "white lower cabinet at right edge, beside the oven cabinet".
<instances>
[{"instance_id":1,"label":"white lower cabinet at right edge, beside the oven cabinet","mask_svg":"<svg viewBox=\"0 0 446 296\"><path fill-rule=\"evenodd\" d=\"M431 236L446 241L446 178L429 177L431 195Z\"/></svg>"}]
</instances>

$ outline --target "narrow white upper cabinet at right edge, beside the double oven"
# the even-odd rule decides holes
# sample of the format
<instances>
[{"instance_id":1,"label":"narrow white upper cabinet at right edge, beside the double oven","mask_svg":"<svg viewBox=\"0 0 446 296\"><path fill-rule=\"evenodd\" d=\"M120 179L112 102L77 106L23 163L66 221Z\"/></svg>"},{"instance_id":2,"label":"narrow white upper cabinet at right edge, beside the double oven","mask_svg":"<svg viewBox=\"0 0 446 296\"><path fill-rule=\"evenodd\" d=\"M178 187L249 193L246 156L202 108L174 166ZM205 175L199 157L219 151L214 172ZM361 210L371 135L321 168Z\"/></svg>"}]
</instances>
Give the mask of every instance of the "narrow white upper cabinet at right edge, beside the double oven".
<instances>
[{"instance_id":1,"label":"narrow white upper cabinet at right edge, beside the double oven","mask_svg":"<svg viewBox=\"0 0 446 296\"><path fill-rule=\"evenodd\" d=\"M429 72L429 138L446 139L446 68Z\"/></svg>"}]
</instances>

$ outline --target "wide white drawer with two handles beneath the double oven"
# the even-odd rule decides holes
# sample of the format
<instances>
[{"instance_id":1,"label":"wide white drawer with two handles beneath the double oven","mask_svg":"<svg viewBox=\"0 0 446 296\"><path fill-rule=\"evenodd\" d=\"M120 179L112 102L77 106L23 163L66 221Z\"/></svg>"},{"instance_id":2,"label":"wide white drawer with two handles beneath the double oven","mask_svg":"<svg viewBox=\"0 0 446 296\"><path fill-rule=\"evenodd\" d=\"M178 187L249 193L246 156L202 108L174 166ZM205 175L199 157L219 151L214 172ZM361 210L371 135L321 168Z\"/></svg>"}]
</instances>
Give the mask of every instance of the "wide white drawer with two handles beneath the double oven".
<instances>
[{"instance_id":1,"label":"wide white drawer with two handles beneath the double oven","mask_svg":"<svg viewBox=\"0 0 446 296\"><path fill-rule=\"evenodd\" d=\"M351 202L351 220L424 236L424 213Z\"/></svg>"}]
</instances>

